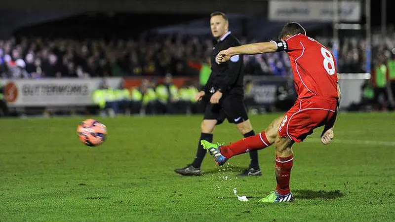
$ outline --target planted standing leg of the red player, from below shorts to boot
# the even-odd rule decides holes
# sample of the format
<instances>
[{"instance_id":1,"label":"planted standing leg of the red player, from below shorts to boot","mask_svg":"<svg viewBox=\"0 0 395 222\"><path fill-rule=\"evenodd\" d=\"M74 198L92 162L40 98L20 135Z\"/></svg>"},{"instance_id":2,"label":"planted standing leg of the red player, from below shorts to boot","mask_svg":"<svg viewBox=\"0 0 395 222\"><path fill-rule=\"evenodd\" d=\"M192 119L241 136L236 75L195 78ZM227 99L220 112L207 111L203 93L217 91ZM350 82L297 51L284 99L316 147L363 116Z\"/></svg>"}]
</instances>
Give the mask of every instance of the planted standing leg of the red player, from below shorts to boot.
<instances>
[{"instance_id":1,"label":"planted standing leg of the red player, from below shorts to boot","mask_svg":"<svg viewBox=\"0 0 395 222\"><path fill-rule=\"evenodd\" d=\"M293 165L292 145L294 142L289 137L277 136L276 147L276 190L259 200L263 203L290 202L293 195L289 188L289 180Z\"/></svg>"}]
</instances>

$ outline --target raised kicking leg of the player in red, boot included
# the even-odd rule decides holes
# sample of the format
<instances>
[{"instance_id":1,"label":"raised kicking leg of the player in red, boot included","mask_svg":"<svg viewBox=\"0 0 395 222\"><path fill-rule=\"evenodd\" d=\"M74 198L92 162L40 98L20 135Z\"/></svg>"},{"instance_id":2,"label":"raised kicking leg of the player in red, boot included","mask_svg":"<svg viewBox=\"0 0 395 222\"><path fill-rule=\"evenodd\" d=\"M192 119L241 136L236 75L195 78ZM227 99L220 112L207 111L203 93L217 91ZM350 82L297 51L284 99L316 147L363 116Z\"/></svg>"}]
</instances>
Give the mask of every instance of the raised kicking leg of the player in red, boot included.
<instances>
[{"instance_id":1,"label":"raised kicking leg of the player in red, boot included","mask_svg":"<svg viewBox=\"0 0 395 222\"><path fill-rule=\"evenodd\" d=\"M278 127L283 117L276 118L269 126L259 134L244 138L228 146L220 146L209 141L201 141L203 148L208 150L218 165L223 165L232 156L239 155L250 150L267 148L275 142Z\"/></svg>"}]
</instances>

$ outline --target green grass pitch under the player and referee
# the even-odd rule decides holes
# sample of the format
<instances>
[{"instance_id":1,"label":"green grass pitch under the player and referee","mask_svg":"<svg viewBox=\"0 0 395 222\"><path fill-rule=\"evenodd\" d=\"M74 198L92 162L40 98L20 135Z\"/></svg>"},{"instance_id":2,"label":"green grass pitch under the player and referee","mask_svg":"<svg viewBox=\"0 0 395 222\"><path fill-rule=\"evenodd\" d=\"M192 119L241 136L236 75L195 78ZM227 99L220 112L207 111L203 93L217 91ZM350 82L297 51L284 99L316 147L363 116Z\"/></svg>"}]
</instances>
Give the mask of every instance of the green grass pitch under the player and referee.
<instances>
[{"instance_id":1,"label":"green grass pitch under the player and referee","mask_svg":"<svg viewBox=\"0 0 395 222\"><path fill-rule=\"evenodd\" d=\"M277 115L251 116L255 131ZM0 120L0 221L395 221L394 113L342 113L331 145L322 129L294 145L295 201L282 204L257 202L276 185L273 147L259 151L261 177L236 177L248 154L225 167L207 155L202 177L173 172L192 162L201 116L98 118L96 148L77 139L81 120ZM229 123L214 131L240 138Z\"/></svg>"}]
</instances>

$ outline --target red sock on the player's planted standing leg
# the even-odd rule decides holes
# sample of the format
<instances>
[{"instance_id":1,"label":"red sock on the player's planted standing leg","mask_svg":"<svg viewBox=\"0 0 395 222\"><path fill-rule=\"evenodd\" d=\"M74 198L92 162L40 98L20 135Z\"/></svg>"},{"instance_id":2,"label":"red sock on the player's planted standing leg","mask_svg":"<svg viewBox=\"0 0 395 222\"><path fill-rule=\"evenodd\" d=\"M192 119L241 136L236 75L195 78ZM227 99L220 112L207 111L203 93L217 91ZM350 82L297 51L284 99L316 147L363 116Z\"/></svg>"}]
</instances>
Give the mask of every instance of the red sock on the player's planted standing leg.
<instances>
[{"instance_id":1,"label":"red sock on the player's planted standing leg","mask_svg":"<svg viewBox=\"0 0 395 222\"><path fill-rule=\"evenodd\" d=\"M279 157L276 155L276 190L281 195L288 194L289 191L289 179L291 176L293 155L288 157Z\"/></svg>"}]
</instances>

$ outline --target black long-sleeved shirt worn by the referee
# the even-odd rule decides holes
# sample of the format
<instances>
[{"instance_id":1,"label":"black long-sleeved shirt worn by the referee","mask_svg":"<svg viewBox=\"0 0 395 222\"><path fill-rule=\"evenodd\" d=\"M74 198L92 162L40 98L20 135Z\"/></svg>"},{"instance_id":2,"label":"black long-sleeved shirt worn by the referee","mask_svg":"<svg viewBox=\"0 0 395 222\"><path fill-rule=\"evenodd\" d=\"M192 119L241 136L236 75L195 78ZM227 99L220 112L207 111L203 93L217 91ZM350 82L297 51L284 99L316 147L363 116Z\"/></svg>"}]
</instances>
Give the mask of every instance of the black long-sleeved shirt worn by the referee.
<instances>
[{"instance_id":1,"label":"black long-sleeved shirt worn by the referee","mask_svg":"<svg viewBox=\"0 0 395 222\"><path fill-rule=\"evenodd\" d=\"M214 93L220 90L224 94L243 94L243 57L235 55L226 63L217 64L215 57L217 54L229 47L239 46L240 41L227 32L217 44L214 45L211 53L211 74L204 91Z\"/></svg>"}]
</instances>

